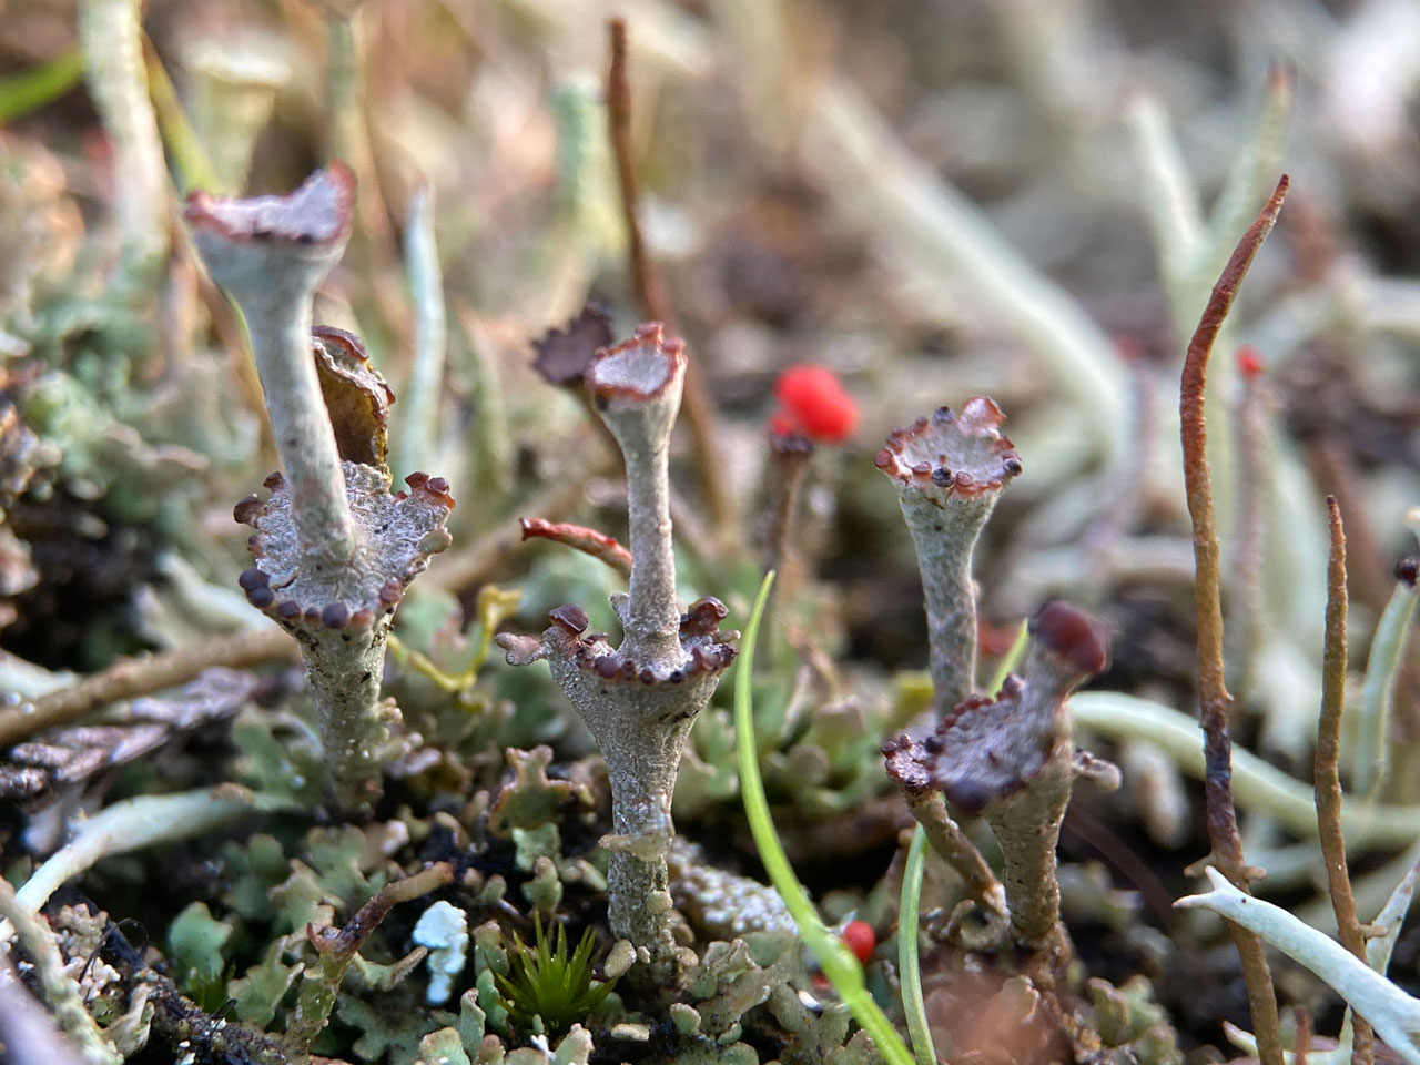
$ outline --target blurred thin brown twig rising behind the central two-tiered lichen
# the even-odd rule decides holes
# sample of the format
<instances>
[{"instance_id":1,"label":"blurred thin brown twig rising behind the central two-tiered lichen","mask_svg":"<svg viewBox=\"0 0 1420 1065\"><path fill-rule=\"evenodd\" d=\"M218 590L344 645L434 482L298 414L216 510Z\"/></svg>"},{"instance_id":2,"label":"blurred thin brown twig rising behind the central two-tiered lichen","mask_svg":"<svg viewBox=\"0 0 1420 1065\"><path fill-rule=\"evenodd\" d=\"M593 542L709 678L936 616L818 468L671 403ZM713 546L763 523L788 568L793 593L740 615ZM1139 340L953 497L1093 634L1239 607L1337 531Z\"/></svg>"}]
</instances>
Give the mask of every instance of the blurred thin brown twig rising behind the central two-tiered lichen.
<instances>
[{"instance_id":1,"label":"blurred thin brown twig rising behind the central two-tiered lichen","mask_svg":"<svg viewBox=\"0 0 1420 1065\"><path fill-rule=\"evenodd\" d=\"M660 275L652 268L646 254L646 241L640 230L640 192L636 185L636 166L632 151L630 131L630 78L626 61L626 20L611 18L606 23L611 36L611 65L606 74L606 111L611 129L612 156L616 160L616 179L621 186L622 213L626 220L626 258L630 266L632 287L640 314L649 321L666 322L669 302ZM704 375L699 359L686 361L684 392L682 408L686 425L694 440L696 473L700 479L706 506L713 515L717 538L724 541L734 527L736 514L730 493L726 490L716 440L714 406L706 390Z\"/></svg>"}]
</instances>

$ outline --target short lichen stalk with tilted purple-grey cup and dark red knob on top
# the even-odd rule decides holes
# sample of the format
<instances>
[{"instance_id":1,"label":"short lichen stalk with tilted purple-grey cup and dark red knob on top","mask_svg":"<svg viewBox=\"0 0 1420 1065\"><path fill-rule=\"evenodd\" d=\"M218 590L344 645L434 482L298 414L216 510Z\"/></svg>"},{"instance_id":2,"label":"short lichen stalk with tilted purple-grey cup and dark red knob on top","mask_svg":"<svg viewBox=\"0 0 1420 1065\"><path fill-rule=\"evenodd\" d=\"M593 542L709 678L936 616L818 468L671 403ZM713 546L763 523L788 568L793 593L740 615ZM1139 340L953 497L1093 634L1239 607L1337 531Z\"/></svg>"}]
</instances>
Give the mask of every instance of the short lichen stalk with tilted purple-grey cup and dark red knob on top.
<instances>
[{"instance_id":1,"label":"short lichen stalk with tilted purple-grey cup and dark red knob on top","mask_svg":"<svg viewBox=\"0 0 1420 1065\"><path fill-rule=\"evenodd\" d=\"M1012 939L1064 958L1055 845L1076 775L1118 787L1108 763L1076 753L1065 699L1109 662L1105 626L1055 601L1031 619L1024 677L995 699L973 696L917 743L886 744L888 772L907 792L943 791L964 814L981 815L1001 845Z\"/></svg>"}]
</instances>

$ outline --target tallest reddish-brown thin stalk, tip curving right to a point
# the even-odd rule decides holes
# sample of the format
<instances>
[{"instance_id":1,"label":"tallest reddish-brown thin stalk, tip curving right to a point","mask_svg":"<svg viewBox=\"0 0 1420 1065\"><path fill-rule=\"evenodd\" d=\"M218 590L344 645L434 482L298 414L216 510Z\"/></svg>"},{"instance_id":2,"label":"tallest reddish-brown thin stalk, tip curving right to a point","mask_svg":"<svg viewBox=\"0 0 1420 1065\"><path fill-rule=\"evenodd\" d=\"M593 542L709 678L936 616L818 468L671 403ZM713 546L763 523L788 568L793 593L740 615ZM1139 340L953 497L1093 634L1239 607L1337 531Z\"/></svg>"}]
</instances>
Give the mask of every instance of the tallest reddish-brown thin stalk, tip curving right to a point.
<instances>
[{"instance_id":1,"label":"tallest reddish-brown thin stalk, tip curving right to a point","mask_svg":"<svg viewBox=\"0 0 1420 1065\"><path fill-rule=\"evenodd\" d=\"M1228 737L1228 709L1233 697L1223 677L1223 606L1218 589L1218 531L1213 520L1213 479L1208 473L1207 427L1203 416L1204 383L1213 342L1223 328L1237 295L1238 285L1252 264L1257 250L1277 223L1287 196L1288 179L1277 183L1272 199L1262 207L1248 231L1242 234L1233 257L1228 258L1208 304L1198 320L1198 328L1189 341L1183 361L1183 381L1179 396L1179 420L1183 437L1183 477L1189 494L1189 517L1193 520L1194 608L1198 623L1198 701L1203 726L1203 754L1207 765L1204 794L1208 812L1210 861L1240 890L1250 890L1242 861L1242 839L1238 835L1237 809L1233 805L1233 741ZM1230 926L1233 941L1242 960L1252 1028L1257 1032L1258 1056L1262 1065L1282 1065L1281 1024L1272 974L1262 953L1261 940L1235 924Z\"/></svg>"}]
</instances>

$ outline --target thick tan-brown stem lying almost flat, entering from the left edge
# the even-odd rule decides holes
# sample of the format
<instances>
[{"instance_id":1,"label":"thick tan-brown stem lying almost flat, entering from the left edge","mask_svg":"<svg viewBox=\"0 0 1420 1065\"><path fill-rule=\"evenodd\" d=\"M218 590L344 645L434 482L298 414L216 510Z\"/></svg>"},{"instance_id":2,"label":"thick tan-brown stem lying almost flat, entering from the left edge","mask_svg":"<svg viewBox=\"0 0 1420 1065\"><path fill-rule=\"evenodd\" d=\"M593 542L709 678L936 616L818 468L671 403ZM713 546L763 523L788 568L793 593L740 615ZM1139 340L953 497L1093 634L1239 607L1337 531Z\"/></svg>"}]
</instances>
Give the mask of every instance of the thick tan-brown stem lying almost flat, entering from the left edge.
<instances>
[{"instance_id":1,"label":"thick tan-brown stem lying almost flat, entering from the left edge","mask_svg":"<svg viewBox=\"0 0 1420 1065\"><path fill-rule=\"evenodd\" d=\"M179 650L148 657L122 659L102 673L94 673L72 687L51 692L0 713L0 748L34 736L43 728L70 724L108 703L136 699L186 684L206 669L247 669L278 657L294 657L295 642L275 626L263 626L236 636L220 636Z\"/></svg>"}]
</instances>

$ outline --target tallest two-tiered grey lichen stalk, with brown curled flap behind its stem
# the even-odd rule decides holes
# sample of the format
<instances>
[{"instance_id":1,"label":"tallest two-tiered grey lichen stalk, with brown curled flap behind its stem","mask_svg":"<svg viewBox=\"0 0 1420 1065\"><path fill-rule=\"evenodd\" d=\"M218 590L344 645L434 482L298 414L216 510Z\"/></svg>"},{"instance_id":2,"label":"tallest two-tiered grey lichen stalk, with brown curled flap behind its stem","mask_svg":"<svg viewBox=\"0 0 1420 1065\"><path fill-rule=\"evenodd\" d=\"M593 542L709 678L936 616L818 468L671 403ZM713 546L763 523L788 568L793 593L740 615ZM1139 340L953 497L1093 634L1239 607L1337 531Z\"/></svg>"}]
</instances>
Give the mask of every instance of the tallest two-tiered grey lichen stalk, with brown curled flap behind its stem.
<instances>
[{"instance_id":1,"label":"tallest two-tiered grey lichen stalk, with brown curled flap behind its stem","mask_svg":"<svg viewBox=\"0 0 1420 1065\"><path fill-rule=\"evenodd\" d=\"M256 528L247 599L301 645L331 785L354 815L381 794L385 638L408 584L449 545L442 477L390 493L393 396L359 339L311 328L315 290L349 237L354 179L334 163L290 196L195 193L187 222L213 280L247 321L284 474L234 511Z\"/></svg>"}]
</instances>

